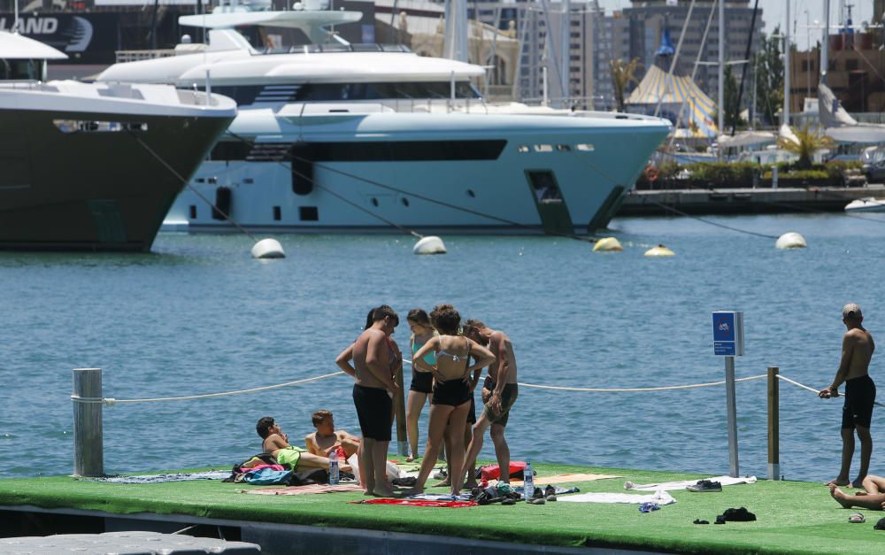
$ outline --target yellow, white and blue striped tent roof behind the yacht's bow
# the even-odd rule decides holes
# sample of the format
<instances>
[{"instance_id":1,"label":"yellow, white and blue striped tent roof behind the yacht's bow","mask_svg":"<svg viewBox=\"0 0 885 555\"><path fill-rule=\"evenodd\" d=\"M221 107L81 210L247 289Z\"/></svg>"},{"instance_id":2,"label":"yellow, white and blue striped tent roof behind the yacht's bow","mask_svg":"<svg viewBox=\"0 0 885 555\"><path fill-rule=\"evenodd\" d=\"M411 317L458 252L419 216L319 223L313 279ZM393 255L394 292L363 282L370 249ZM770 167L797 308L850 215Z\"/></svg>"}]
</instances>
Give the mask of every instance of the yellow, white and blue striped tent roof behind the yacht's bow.
<instances>
[{"instance_id":1,"label":"yellow, white and blue striped tent roof behind the yacht's bow","mask_svg":"<svg viewBox=\"0 0 885 555\"><path fill-rule=\"evenodd\" d=\"M673 121L680 135L708 138L719 135L713 120L716 104L688 76L671 77L658 66L651 66L627 98L627 105L634 108L630 112L642 107L643 112L653 113L658 103L660 115Z\"/></svg>"}]
</instances>

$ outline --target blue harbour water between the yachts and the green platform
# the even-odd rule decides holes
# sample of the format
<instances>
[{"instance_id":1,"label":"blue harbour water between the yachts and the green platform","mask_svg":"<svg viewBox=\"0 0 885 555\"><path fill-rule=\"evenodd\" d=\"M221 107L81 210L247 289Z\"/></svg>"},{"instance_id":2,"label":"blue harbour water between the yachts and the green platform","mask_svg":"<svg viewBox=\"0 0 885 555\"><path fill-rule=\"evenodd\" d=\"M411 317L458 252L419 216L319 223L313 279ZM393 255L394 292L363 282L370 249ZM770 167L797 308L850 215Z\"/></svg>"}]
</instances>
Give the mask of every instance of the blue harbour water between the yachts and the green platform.
<instances>
[{"instance_id":1,"label":"blue harbour water between the yachts and the green platform","mask_svg":"<svg viewBox=\"0 0 885 555\"><path fill-rule=\"evenodd\" d=\"M73 469L71 369L104 369L104 396L167 397L246 389L334 372L373 305L402 315L451 302L512 338L519 381L655 387L721 380L710 312L743 310L737 375L780 366L820 388L835 373L840 309L861 304L885 341L879 278L885 220L843 214L711 218L810 248L688 219L621 219L621 253L544 237L444 237L449 254L412 255L410 237L279 237L288 258L250 258L240 235L159 235L154 252L116 256L0 254L0 477ZM676 251L644 258L657 243ZM408 342L401 325L395 338ZM873 378L885 383L885 355ZM335 412L358 432L350 378L261 394L104 409L108 473L227 467L260 451L255 421L290 438ZM408 382L406 382L408 386ZM881 396L885 398L885 395ZM781 467L788 478L835 476L841 400L781 384ZM741 471L766 474L765 381L737 385ZM881 409L873 467L885 473ZM427 409L422 416L426 426ZM725 389L652 393L520 390L507 436L514 459L727 473ZM422 434L423 443L423 434ZM490 442L483 456L492 458ZM855 462L857 465L857 459Z\"/></svg>"}]
</instances>

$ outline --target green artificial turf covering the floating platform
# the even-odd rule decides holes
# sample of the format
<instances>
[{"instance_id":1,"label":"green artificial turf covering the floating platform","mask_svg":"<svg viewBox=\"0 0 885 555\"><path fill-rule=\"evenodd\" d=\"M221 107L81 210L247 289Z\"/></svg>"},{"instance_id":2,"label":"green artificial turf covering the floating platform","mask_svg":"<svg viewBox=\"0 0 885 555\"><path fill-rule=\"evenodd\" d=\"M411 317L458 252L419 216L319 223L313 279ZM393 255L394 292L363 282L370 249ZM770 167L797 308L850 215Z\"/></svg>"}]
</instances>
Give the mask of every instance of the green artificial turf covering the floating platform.
<instances>
[{"instance_id":1,"label":"green artificial turf covering the floating platform","mask_svg":"<svg viewBox=\"0 0 885 555\"><path fill-rule=\"evenodd\" d=\"M558 484L581 492L621 492L637 484L694 480L707 476L619 468L538 465L539 476L563 473L617 474L620 478ZM543 477L536 485L543 486ZM638 505L548 503L469 508L353 505L359 493L255 496L256 488L218 481L114 484L67 476L0 480L0 508L35 505L105 513L186 514L210 519L256 520L331 528L368 528L435 536L459 536L557 546L608 546L650 551L720 553L871 553L885 546L885 531L873 529L885 513L864 511L865 524L849 523L850 513L809 482L767 482L726 486L720 493L671 491L677 503L640 513ZM444 489L428 489L444 493ZM746 507L755 522L716 525L729 507ZM693 524L695 519L709 525Z\"/></svg>"}]
</instances>

